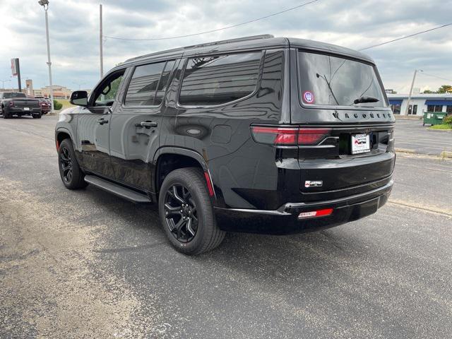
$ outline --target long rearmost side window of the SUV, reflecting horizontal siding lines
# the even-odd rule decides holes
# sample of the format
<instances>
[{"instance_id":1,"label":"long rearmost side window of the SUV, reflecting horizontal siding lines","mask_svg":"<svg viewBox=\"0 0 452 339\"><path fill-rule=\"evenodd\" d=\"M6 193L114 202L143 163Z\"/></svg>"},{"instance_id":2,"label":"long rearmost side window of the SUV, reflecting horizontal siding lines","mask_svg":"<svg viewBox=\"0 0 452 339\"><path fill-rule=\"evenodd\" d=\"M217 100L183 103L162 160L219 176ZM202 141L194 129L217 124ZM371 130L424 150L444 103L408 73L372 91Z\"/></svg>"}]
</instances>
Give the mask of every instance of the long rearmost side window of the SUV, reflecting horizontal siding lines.
<instances>
[{"instance_id":1,"label":"long rearmost side window of the SUV, reflecting horizontal siding lines","mask_svg":"<svg viewBox=\"0 0 452 339\"><path fill-rule=\"evenodd\" d=\"M261 52L189 59L184 71L181 105L220 105L254 92Z\"/></svg>"}]
</instances>

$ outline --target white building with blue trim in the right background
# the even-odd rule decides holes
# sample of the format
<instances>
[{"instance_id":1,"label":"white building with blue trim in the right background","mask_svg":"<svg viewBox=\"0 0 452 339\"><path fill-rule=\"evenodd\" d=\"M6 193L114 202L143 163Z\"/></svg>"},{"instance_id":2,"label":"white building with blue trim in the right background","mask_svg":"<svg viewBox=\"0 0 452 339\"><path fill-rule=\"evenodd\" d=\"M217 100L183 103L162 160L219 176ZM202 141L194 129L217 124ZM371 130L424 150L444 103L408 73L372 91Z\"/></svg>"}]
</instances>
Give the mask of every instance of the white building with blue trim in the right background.
<instances>
[{"instance_id":1,"label":"white building with blue trim in the right background","mask_svg":"<svg viewBox=\"0 0 452 339\"><path fill-rule=\"evenodd\" d=\"M408 94L388 94L394 114L405 115ZM408 115L423 116L424 112L446 112L452 114L452 94L413 94Z\"/></svg>"}]
</instances>

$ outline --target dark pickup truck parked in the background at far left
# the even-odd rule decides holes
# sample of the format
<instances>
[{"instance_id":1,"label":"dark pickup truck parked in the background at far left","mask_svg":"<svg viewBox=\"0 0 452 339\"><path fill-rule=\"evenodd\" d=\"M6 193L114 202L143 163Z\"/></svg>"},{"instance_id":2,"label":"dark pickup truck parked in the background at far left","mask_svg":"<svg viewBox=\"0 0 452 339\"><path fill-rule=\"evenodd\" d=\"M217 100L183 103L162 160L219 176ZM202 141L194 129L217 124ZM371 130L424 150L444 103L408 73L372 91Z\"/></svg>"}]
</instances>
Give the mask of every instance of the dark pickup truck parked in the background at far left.
<instances>
[{"instance_id":1,"label":"dark pickup truck parked in the background at far left","mask_svg":"<svg viewBox=\"0 0 452 339\"><path fill-rule=\"evenodd\" d=\"M31 115L35 119L42 117L40 100L31 99L20 92L0 92L1 114L4 119L17 115Z\"/></svg>"}]
</instances>

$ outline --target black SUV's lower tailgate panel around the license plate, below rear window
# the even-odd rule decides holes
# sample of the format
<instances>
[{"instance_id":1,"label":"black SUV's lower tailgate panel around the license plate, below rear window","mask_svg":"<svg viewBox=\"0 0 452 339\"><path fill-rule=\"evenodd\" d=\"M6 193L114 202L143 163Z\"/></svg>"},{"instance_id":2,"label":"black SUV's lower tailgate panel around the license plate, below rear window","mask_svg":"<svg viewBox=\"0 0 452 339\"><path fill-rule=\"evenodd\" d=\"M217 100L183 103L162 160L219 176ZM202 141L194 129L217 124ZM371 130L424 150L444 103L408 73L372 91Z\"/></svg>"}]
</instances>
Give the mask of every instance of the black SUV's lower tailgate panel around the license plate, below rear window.
<instances>
[{"instance_id":1,"label":"black SUV's lower tailgate panel around the license plate, below rear window","mask_svg":"<svg viewBox=\"0 0 452 339\"><path fill-rule=\"evenodd\" d=\"M359 194L390 180L395 162L392 124L322 130L325 134L316 145L299 145L300 191L306 201ZM364 138L369 148L353 154L355 136Z\"/></svg>"}]
</instances>

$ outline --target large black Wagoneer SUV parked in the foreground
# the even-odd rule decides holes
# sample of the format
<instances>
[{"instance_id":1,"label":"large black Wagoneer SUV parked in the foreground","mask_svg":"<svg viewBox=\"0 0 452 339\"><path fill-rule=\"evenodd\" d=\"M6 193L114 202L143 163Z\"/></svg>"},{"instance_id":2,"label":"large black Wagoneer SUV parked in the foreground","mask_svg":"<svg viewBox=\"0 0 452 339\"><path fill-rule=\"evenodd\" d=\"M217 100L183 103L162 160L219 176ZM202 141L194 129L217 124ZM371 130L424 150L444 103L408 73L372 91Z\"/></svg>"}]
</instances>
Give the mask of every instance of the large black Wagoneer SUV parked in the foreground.
<instances>
[{"instance_id":1,"label":"large black Wagoneer SUV parked in the foreground","mask_svg":"<svg viewBox=\"0 0 452 339\"><path fill-rule=\"evenodd\" d=\"M374 213L393 185L394 117L374 61L262 35L129 59L56 127L68 189L157 202L172 245L290 234Z\"/></svg>"}]
</instances>

